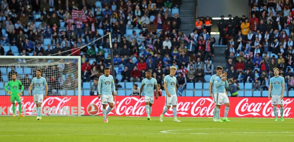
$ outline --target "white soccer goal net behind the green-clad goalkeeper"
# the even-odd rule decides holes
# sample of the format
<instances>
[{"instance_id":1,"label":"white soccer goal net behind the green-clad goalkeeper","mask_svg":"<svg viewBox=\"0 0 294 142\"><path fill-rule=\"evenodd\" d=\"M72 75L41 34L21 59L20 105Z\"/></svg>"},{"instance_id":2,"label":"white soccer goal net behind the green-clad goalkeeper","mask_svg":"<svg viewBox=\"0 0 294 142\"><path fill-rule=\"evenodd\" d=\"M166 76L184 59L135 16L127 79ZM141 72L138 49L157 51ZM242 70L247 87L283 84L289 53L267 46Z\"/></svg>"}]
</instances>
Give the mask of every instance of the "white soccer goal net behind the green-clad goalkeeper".
<instances>
[{"instance_id":1,"label":"white soccer goal net behind the green-clad goalkeeper","mask_svg":"<svg viewBox=\"0 0 294 142\"><path fill-rule=\"evenodd\" d=\"M47 99L42 103L43 114L80 116L80 56L0 56L0 115L12 114L12 103L4 86L12 80L13 73L24 86L24 93L21 96L22 113L25 115L36 113L33 97L29 96L29 86L32 78L36 77L36 69L42 70L41 76L46 78L48 85ZM45 94L45 86L43 87ZM18 115L18 103L15 108Z\"/></svg>"}]
</instances>

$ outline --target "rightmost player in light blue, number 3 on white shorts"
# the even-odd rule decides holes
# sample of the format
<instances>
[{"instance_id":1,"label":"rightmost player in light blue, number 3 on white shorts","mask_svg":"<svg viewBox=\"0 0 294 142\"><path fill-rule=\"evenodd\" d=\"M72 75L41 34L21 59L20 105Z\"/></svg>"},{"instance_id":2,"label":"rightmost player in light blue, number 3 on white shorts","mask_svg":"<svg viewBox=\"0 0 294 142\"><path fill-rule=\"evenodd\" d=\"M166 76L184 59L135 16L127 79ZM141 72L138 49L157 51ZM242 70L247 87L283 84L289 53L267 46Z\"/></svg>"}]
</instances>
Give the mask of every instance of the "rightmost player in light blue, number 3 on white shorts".
<instances>
[{"instance_id":1,"label":"rightmost player in light blue, number 3 on white shorts","mask_svg":"<svg viewBox=\"0 0 294 142\"><path fill-rule=\"evenodd\" d=\"M279 76L280 70L274 68L275 77L270 78L270 86L268 87L268 99L270 100L270 95L272 95L272 105L274 106L275 121L278 121L277 117L277 104L280 105L281 121L284 121L284 92L285 92L285 78Z\"/></svg>"}]
</instances>

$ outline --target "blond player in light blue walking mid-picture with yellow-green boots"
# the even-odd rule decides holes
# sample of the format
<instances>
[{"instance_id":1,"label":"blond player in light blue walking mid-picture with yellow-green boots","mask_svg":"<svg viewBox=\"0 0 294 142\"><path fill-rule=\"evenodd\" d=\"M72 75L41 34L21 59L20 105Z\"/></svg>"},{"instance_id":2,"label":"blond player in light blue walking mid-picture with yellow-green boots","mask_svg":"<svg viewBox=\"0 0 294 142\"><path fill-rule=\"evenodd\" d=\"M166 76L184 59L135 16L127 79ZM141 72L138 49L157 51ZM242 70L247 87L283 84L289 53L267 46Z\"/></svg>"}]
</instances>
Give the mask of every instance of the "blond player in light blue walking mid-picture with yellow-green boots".
<instances>
[{"instance_id":1,"label":"blond player in light blue walking mid-picture with yellow-green boots","mask_svg":"<svg viewBox=\"0 0 294 142\"><path fill-rule=\"evenodd\" d=\"M163 79L163 86L166 91L166 101L165 106L163 108L163 112L160 115L160 122L163 122L163 116L168 111L171 106L173 106L173 122L181 122L177 119L177 105L178 105L178 97L176 94L177 90L177 78L175 77L177 68L175 66L170 67L170 74L165 76Z\"/></svg>"}]
</instances>

